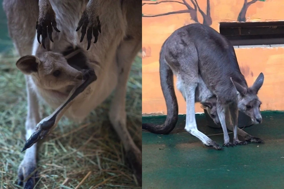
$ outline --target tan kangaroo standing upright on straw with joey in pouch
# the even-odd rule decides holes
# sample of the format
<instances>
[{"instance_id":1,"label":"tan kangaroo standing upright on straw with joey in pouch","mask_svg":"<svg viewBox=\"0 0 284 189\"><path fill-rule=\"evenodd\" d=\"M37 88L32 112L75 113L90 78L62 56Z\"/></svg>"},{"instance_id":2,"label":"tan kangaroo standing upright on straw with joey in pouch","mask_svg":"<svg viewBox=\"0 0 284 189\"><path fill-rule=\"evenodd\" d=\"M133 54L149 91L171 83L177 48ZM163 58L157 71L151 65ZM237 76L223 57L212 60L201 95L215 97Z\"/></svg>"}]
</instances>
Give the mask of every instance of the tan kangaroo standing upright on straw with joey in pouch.
<instances>
[{"instance_id":1,"label":"tan kangaroo standing upright on straw with joey in pouch","mask_svg":"<svg viewBox=\"0 0 284 189\"><path fill-rule=\"evenodd\" d=\"M84 10L92 12L89 5L93 1L49 0L56 15L56 24L52 21L51 25L60 30L49 38L46 38L45 25L39 29L41 2L44 1L3 1L9 35L21 56L16 65L25 74L28 99L25 122L25 138L28 141L18 170L19 184L24 184L24 188L35 185L35 174L28 177L36 168L37 143L34 142L49 134L63 114L74 121L83 120L115 89L109 119L122 140L126 157L141 185L142 154L126 128L125 112L128 75L142 46L141 3L135 0L99 0L98 16L102 32L98 40L95 39L96 43L86 51L89 30L87 39L82 41L76 28ZM37 30L34 23L37 23ZM41 45L38 43L39 33ZM56 109L54 113L41 119L39 100ZM26 182L23 183L23 180Z\"/></svg>"}]
</instances>

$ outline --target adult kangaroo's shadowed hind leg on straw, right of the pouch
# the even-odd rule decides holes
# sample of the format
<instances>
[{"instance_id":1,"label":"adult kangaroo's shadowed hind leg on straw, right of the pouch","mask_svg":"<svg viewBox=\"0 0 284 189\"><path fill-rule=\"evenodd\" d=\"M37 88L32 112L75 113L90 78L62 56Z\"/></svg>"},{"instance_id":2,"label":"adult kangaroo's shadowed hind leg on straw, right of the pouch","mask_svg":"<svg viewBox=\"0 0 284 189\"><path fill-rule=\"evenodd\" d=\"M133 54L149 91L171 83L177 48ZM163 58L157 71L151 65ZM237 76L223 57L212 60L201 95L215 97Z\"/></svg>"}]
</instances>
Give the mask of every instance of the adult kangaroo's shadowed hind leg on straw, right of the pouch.
<instances>
[{"instance_id":1,"label":"adult kangaroo's shadowed hind leg on straw, right of the pouch","mask_svg":"<svg viewBox=\"0 0 284 189\"><path fill-rule=\"evenodd\" d=\"M126 152L125 156L139 185L142 185L142 152L135 145L127 130L125 98L130 68L141 46L141 38L139 38L138 40L123 41L117 50L117 64L119 65L120 75L118 76L114 98L109 111L110 122L123 143Z\"/></svg>"}]
</instances>

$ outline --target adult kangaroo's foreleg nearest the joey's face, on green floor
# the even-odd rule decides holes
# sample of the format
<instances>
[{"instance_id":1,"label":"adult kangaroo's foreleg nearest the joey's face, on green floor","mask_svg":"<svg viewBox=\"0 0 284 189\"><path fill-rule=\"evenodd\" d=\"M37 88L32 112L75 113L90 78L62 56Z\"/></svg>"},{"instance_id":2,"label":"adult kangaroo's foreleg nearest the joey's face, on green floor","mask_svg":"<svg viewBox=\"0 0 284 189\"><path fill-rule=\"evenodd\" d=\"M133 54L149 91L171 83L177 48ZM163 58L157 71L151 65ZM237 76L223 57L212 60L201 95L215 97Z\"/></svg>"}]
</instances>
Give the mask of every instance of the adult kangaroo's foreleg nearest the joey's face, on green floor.
<instances>
[{"instance_id":1,"label":"adult kangaroo's foreleg nearest the joey's face, on green floor","mask_svg":"<svg viewBox=\"0 0 284 189\"><path fill-rule=\"evenodd\" d=\"M219 116L220 119L220 123L222 126L222 130L224 133L224 144L223 146L226 147L230 147L230 146L235 146L233 143L230 143L230 138L228 135L228 131L227 131L227 127L226 125L229 124L229 120L230 120L230 112L229 112L229 108L225 103L222 103L222 101L220 101L220 99L217 99L217 114Z\"/></svg>"}]
</instances>

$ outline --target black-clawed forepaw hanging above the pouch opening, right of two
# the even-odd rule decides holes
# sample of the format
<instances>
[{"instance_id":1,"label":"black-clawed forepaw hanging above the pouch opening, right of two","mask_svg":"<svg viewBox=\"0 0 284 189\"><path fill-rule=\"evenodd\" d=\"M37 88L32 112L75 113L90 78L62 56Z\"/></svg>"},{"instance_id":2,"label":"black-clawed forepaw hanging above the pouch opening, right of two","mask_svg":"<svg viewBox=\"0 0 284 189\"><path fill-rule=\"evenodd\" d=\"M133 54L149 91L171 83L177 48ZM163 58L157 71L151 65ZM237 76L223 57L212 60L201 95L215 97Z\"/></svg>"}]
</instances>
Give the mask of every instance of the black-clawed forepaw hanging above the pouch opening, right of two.
<instances>
[{"instance_id":1,"label":"black-clawed forepaw hanging above the pouch opening, right of two","mask_svg":"<svg viewBox=\"0 0 284 189\"><path fill-rule=\"evenodd\" d=\"M94 16L93 14L91 14L91 11L88 11L88 9L86 9L83 12L83 15L78 23L78 28L76 29L76 31L79 31L81 27L82 27L81 29L82 35L80 42L83 41L86 30L88 28L87 31L87 40L88 40L87 51L88 51L91 46L92 34L95 37L94 43L96 43L98 41L99 32L101 33L101 22L99 20L99 16Z\"/></svg>"}]
</instances>

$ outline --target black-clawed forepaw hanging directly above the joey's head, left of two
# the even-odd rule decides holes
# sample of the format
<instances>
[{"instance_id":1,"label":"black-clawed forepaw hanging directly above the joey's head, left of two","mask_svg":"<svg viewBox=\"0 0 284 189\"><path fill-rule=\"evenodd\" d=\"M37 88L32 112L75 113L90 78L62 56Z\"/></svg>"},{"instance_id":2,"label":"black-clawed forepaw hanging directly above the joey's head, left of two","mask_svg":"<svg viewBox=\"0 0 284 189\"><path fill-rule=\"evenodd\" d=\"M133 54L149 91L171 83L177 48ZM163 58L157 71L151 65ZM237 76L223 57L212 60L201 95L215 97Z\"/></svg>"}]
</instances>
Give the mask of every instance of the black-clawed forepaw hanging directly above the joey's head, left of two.
<instances>
[{"instance_id":1,"label":"black-clawed forepaw hanging directly above the joey's head, left of two","mask_svg":"<svg viewBox=\"0 0 284 189\"><path fill-rule=\"evenodd\" d=\"M39 15L38 20L36 21L36 24L35 24L35 29L37 30L38 43L41 43L40 42L40 36L41 36L42 46L44 49L45 49L44 41L47 37L47 34L49 35L50 41L53 42L52 27L54 28L55 31L60 32L57 29L56 25L57 23L55 21L55 12L52 9L52 7L48 7L46 11L44 11L43 13Z\"/></svg>"}]
</instances>

